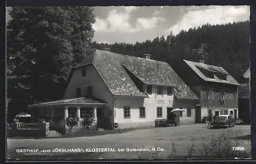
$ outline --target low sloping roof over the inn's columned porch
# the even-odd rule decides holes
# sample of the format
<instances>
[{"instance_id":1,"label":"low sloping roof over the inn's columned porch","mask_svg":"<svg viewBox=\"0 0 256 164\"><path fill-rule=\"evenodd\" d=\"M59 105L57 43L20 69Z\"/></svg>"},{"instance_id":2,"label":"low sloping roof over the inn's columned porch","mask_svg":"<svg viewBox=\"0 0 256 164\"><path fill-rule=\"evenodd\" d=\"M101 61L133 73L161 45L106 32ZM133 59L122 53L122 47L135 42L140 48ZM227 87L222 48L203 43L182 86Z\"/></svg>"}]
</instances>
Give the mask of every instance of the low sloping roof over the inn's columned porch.
<instances>
[{"instance_id":1,"label":"low sloping roof over the inn's columned porch","mask_svg":"<svg viewBox=\"0 0 256 164\"><path fill-rule=\"evenodd\" d=\"M71 98L71 99L62 99L57 101L50 102L42 102L37 104L30 104L29 107L39 107L39 106L52 106L52 105L105 105L106 102L97 98L87 98L87 97L79 97L79 98Z\"/></svg>"}]
</instances>

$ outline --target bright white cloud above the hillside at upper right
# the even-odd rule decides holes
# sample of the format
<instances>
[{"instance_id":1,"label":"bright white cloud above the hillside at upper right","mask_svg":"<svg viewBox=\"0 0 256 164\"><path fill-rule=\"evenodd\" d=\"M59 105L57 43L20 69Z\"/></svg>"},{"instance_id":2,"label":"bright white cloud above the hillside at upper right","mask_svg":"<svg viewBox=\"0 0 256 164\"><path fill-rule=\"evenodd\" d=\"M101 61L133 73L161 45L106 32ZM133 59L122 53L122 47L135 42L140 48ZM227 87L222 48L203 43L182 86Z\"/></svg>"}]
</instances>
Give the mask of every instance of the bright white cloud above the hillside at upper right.
<instances>
[{"instance_id":1,"label":"bright white cloud above the hillside at upper right","mask_svg":"<svg viewBox=\"0 0 256 164\"><path fill-rule=\"evenodd\" d=\"M232 23L234 21L245 21L249 20L250 13L248 6L210 6L204 10L200 10L199 7L192 7L187 11L180 21L165 30L166 34L172 31L176 35L181 30L197 28L207 23L215 25Z\"/></svg>"}]
</instances>

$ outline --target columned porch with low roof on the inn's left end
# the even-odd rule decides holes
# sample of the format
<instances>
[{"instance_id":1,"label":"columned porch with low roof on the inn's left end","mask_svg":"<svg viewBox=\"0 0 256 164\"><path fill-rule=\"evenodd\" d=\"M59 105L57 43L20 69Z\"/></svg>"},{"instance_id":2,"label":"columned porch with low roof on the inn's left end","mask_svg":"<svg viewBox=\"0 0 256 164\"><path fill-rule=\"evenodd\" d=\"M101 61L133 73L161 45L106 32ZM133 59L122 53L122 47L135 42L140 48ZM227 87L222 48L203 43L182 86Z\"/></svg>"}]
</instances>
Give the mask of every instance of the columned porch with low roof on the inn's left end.
<instances>
[{"instance_id":1,"label":"columned porch with low roof on the inn's left end","mask_svg":"<svg viewBox=\"0 0 256 164\"><path fill-rule=\"evenodd\" d=\"M62 134L75 132L85 128L89 120L90 129L98 129L103 120L102 114L106 102L96 99L79 97L29 105L33 120L45 119L49 129Z\"/></svg>"}]
</instances>

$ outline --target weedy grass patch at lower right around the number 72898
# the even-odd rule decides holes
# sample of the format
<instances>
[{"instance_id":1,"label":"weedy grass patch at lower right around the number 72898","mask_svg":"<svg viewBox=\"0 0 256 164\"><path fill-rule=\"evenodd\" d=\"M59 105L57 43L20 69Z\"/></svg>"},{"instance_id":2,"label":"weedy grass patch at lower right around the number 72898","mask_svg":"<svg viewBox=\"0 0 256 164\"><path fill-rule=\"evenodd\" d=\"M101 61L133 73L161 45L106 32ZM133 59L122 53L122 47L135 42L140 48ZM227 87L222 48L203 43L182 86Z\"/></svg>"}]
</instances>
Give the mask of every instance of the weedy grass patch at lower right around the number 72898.
<instances>
[{"instance_id":1,"label":"weedy grass patch at lower right around the number 72898","mask_svg":"<svg viewBox=\"0 0 256 164\"><path fill-rule=\"evenodd\" d=\"M172 149L168 150L169 159L235 159L235 158L251 158L251 150L245 145L245 139L250 143L249 135L241 136L241 130L228 130L220 136L212 136L210 139L201 138L201 146L196 147L195 139L190 137L190 145L187 151L178 154L177 144L173 141ZM200 142L200 141L199 141ZM233 147L244 147L245 150L233 150ZM199 150L199 153L195 152ZM159 159L161 152L137 152L136 159ZM166 159L166 158L165 158Z\"/></svg>"}]
</instances>

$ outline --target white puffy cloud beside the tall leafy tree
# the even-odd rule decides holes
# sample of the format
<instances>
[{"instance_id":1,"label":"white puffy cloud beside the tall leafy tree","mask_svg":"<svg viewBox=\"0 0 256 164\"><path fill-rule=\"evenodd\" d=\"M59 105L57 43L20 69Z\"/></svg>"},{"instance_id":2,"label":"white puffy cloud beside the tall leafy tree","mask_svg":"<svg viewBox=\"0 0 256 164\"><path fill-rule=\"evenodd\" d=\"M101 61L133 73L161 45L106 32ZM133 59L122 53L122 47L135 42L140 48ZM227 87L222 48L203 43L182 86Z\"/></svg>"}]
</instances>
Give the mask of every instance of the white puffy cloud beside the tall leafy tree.
<instances>
[{"instance_id":1,"label":"white puffy cloud beside the tall leafy tree","mask_svg":"<svg viewBox=\"0 0 256 164\"><path fill-rule=\"evenodd\" d=\"M143 30L151 30L156 27L159 21L163 21L163 18L160 17L139 17L136 20L136 26L133 27L130 23L131 13L134 10L137 10L138 7L129 6L122 8L122 12L118 12L117 9L111 10L106 19L96 17L96 22L93 24L93 29L96 32L134 33Z\"/></svg>"}]
</instances>

